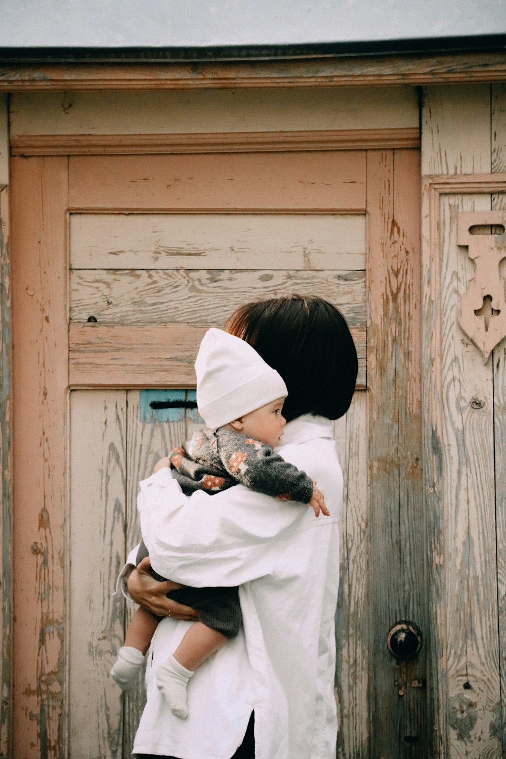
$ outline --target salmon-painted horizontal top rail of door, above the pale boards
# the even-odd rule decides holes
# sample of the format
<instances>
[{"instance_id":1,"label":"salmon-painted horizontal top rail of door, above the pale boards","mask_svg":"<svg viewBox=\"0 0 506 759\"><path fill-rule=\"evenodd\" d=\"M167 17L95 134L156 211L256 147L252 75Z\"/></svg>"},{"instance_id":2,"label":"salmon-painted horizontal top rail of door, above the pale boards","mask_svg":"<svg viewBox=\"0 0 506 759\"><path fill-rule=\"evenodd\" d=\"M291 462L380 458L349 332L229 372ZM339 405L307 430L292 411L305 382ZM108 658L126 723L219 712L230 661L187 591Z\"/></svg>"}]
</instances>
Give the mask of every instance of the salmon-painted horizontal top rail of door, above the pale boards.
<instances>
[{"instance_id":1,"label":"salmon-painted horizontal top rail of door, above the pale boards","mask_svg":"<svg viewBox=\"0 0 506 759\"><path fill-rule=\"evenodd\" d=\"M72 156L73 209L365 209L365 151Z\"/></svg>"}]
</instances>

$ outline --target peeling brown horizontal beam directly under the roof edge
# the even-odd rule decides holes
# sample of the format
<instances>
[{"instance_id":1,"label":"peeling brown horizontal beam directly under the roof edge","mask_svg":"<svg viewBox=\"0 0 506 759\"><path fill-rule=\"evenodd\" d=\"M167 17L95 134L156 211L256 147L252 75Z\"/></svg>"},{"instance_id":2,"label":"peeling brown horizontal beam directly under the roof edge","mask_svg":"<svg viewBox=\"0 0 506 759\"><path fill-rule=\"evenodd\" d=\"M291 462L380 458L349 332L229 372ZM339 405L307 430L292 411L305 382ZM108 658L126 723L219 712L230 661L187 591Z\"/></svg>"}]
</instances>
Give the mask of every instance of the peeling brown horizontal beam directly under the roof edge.
<instances>
[{"instance_id":1,"label":"peeling brown horizontal beam directly under the roof edge","mask_svg":"<svg viewBox=\"0 0 506 759\"><path fill-rule=\"evenodd\" d=\"M350 87L503 81L506 53L369 55L292 61L12 65L0 91L159 90L195 87Z\"/></svg>"}]
</instances>

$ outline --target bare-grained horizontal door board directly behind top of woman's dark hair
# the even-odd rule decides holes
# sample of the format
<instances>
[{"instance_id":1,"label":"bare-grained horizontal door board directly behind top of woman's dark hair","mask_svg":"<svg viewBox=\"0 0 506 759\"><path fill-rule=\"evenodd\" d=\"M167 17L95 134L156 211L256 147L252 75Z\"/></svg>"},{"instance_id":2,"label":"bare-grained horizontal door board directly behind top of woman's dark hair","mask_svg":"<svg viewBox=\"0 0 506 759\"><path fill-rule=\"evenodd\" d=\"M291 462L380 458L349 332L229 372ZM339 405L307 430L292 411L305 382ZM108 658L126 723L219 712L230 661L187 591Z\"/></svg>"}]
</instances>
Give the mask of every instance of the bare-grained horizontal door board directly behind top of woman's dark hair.
<instances>
[{"instance_id":1,"label":"bare-grained horizontal door board directly behind top of woman's dark hair","mask_svg":"<svg viewBox=\"0 0 506 759\"><path fill-rule=\"evenodd\" d=\"M83 269L71 272L69 307L75 324L90 316L104 325L219 324L249 301L319 294L357 325L365 321L365 279L363 271Z\"/></svg>"}]
</instances>

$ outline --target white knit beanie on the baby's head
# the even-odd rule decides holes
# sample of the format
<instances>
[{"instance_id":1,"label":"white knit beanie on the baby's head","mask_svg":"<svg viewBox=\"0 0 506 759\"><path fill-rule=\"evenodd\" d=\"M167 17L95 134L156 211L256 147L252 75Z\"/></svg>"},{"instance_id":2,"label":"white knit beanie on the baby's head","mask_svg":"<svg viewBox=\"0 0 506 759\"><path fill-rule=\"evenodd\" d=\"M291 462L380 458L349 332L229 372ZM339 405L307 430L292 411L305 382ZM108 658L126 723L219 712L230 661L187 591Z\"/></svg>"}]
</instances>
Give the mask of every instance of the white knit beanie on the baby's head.
<instances>
[{"instance_id":1,"label":"white knit beanie on the baby's head","mask_svg":"<svg viewBox=\"0 0 506 759\"><path fill-rule=\"evenodd\" d=\"M281 375L251 345L222 329L204 335L195 371L196 405L212 429L288 395Z\"/></svg>"}]
</instances>

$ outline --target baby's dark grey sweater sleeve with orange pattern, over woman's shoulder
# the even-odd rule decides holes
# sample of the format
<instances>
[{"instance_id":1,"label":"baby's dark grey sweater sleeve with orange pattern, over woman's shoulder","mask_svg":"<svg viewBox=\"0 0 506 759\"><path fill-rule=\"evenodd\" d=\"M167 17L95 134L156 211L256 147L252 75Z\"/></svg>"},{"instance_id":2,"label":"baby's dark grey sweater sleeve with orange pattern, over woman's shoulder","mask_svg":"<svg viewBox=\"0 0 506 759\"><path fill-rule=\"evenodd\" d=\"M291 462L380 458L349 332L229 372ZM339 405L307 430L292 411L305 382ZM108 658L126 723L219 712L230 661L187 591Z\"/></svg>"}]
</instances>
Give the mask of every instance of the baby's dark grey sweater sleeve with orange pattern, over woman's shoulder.
<instances>
[{"instance_id":1,"label":"baby's dark grey sweater sleeve with orange pattern, over woman's shoulder","mask_svg":"<svg viewBox=\"0 0 506 759\"><path fill-rule=\"evenodd\" d=\"M224 430L218 433L218 452L228 474L241 485L282 501L310 502L313 480L274 454L266 442Z\"/></svg>"}]
</instances>

